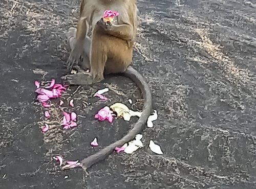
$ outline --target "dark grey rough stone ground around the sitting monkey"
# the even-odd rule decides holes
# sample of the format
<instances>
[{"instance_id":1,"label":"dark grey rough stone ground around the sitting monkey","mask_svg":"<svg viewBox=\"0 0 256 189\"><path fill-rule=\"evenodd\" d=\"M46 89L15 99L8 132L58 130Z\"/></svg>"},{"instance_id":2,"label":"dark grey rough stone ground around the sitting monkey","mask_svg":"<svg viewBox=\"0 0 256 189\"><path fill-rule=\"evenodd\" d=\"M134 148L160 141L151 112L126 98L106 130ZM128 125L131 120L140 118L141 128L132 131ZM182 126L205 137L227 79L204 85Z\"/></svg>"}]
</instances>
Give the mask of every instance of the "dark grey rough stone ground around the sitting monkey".
<instances>
[{"instance_id":1,"label":"dark grey rough stone ground around the sitting monkey","mask_svg":"<svg viewBox=\"0 0 256 189\"><path fill-rule=\"evenodd\" d=\"M150 83L159 119L134 154L113 153L88 173L59 170L53 155L82 159L97 151L88 145L94 136L105 146L131 124L94 121L104 103L93 92L110 87L116 100L107 104L141 98L128 79L106 79L74 93L74 110L87 116L76 129L39 130L34 80L66 74L65 32L76 25L79 2L0 1L1 188L256 188L255 1L187 0L178 7L139 0L134 64ZM150 139L163 155L150 151Z\"/></svg>"}]
</instances>

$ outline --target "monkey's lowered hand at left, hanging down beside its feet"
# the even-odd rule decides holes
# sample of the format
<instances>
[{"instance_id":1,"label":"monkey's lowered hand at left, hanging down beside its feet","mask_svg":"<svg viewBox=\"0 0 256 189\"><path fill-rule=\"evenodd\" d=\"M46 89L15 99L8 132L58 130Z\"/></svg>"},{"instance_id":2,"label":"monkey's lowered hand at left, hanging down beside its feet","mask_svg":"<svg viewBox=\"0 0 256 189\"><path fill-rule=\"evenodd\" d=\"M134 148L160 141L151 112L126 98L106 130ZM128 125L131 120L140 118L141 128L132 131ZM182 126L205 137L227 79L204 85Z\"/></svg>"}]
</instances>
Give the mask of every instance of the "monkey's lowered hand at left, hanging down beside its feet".
<instances>
[{"instance_id":1,"label":"monkey's lowered hand at left, hanging down beside its feet","mask_svg":"<svg viewBox=\"0 0 256 189\"><path fill-rule=\"evenodd\" d=\"M78 42L75 48L71 51L67 61L67 69L70 72L74 65L80 64L83 61L84 51L83 45Z\"/></svg>"}]
</instances>

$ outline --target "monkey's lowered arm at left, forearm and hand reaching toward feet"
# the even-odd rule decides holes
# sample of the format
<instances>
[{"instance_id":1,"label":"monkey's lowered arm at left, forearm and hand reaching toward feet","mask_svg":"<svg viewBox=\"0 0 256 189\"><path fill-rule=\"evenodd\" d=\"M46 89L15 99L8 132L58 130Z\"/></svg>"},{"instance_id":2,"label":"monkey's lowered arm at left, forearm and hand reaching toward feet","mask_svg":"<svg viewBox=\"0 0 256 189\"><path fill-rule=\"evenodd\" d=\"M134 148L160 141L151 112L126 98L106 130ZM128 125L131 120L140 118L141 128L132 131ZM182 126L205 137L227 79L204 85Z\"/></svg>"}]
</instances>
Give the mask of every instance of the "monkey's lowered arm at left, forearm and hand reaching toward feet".
<instances>
[{"instance_id":1,"label":"monkey's lowered arm at left, forearm and hand reaching toward feet","mask_svg":"<svg viewBox=\"0 0 256 189\"><path fill-rule=\"evenodd\" d=\"M89 29L89 23L87 17L81 17L77 23L77 31L74 42L74 48L72 49L69 59L67 61L67 68L70 71L74 64L78 64L83 61L84 58L84 40L86 39Z\"/></svg>"}]
</instances>

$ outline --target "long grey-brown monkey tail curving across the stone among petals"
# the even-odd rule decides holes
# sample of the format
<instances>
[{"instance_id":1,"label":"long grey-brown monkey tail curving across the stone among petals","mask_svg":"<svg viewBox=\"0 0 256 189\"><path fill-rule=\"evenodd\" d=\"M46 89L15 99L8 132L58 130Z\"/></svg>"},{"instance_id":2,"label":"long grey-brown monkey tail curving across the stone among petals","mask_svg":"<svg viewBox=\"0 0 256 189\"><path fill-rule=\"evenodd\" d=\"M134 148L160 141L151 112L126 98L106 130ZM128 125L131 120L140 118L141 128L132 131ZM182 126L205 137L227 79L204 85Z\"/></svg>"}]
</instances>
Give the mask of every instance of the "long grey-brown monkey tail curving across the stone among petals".
<instances>
[{"instance_id":1,"label":"long grey-brown monkey tail curving across the stone among petals","mask_svg":"<svg viewBox=\"0 0 256 189\"><path fill-rule=\"evenodd\" d=\"M147 118L152 113L152 106L153 106L152 95L151 95L150 87L148 86L147 82L144 80L141 74L136 69L134 69L131 65L127 67L124 75L126 77L129 77L131 80L133 80L138 85L138 87L140 88L143 94L144 105L143 105L141 116L139 117L139 120L133 125L132 130L130 130L121 139L105 147L99 152L83 159L80 165L85 170L90 168L96 162L108 157L114 151L115 147L121 147L125 143L128 143L129 141L134 139L135 135L141 132L145 128Z\"/></svg>"}]
</instances>

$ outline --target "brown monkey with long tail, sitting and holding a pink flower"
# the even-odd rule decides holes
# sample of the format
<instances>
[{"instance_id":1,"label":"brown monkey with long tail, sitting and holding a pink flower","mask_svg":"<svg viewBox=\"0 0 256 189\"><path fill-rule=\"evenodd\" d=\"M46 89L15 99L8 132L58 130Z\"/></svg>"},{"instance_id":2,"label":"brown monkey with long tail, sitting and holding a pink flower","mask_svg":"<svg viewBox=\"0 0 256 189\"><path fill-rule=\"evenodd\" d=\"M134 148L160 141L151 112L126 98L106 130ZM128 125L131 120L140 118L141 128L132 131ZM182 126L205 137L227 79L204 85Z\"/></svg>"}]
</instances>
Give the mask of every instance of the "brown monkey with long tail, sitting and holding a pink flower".
<instances>
[{"instance_id":1,"label":"brown monkey with long tail, sitting and holding a pink flower","mask_svg":"<svg viewBox=\"0 0 256 189\"><path fill-rule=\"evenodd\" d=\"M117 11L115 23L105 25L102 14L105 10ZM135 138L145 129L152 113L151 89L141 74L132 67L133 45L137 32L137 0L82 0L77 27L67 33L70 56L67 69L78 69L77 74L61 77L70 85L92 85L101 82L104 75L123 74L136 83L142 92L144 105L141 116L133 128L121 139L97 153L81 160L80 167L87 170L93 164L108 157L115 149ZM92 36L88 37L91 28ZM89 73L83 68L88 68ZM70 169L70 168L67 168Z\"/></svg>"}]
</instances>

